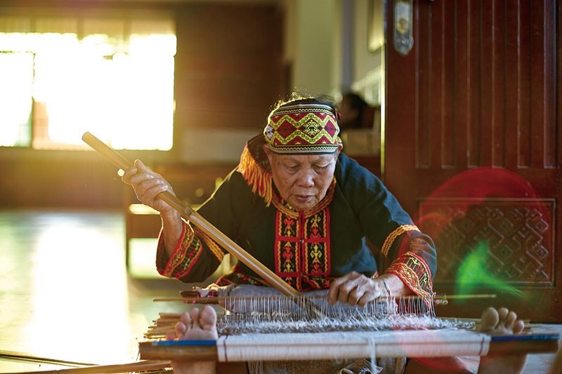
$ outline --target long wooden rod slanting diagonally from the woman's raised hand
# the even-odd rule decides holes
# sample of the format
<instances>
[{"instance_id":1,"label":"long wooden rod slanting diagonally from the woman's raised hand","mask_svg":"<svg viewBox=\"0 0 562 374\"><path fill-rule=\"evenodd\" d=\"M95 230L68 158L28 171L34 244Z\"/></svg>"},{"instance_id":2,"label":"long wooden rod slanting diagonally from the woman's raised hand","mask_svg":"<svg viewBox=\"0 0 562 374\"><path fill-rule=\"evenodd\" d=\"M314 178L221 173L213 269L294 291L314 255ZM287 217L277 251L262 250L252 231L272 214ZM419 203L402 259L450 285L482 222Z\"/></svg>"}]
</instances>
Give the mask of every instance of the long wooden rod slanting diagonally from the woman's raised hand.
<instances>
[{"instance_id":1,"label":"long wooden rod slanting diagonally from the woman's raised hand","mask_svg":"<svg viewBox=\"0 0 562 374\"><path fill-rule=\"evenodd\" d=\"M114 163L115 166L122 169L123 171L126 171L133 166L131 162L127 161L127 159L117 153L115 149L107 146L104 142L96 138L91 133L84 133L84 135L82 136L82 140L84 140L84 142L86 142L86 144L93 149L96 149L96 151L98 151L100 154L103 154L103 156L105 156L112 163ZM228 236L223 234L216 227L211 225L210 222L205 220L202 215L194 211L190 206L186 205L185 203L183 203L183 201L171 194L171 192L164 191L159 194L158 197L164 202L168 203L172 208L176 209L176 211L178 211L183 218L189 220L194 225L199 227L205 234L209 235L211 239L225 248L226 251L243 262L244 265L247 265L247 267L254 270L256 274L265 279L268 283L270 283L271 286L277 288L277 290L280 290L284 295L301 296L301 293L299 293L299 291L289 286L289 284L283 281L279 276L277 276L277 274L275 274L261 262L256 260L256 258L247 253L247 251L244 251L242 247L238 246ZM311 302L305 302L305 305L301 306L309 313L315 314L317 316L321 314L318 307L316 307Z\"/></svg>"}]
</instances>

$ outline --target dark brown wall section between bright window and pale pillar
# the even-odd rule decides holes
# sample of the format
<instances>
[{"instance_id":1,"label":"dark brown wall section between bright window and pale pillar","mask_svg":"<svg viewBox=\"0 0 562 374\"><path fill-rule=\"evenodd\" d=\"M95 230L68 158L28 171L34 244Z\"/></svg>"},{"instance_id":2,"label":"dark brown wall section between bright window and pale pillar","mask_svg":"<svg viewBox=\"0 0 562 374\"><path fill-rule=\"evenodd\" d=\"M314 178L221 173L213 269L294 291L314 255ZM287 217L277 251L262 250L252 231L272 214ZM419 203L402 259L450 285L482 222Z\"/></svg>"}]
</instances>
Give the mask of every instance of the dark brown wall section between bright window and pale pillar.
<instances>
[{"instance_id":1,"label":"dark brown wall section between bright window and pale pillar","mask_svg":"<svg viewBox=\"0 0 562 374\"><path fill-rule=\"evenodd\" d=\"M282 11L189 4L177 14L179 157L236 163L245 141L265 126L270 106L285 95Z\"/></svg>"}]
</instances>

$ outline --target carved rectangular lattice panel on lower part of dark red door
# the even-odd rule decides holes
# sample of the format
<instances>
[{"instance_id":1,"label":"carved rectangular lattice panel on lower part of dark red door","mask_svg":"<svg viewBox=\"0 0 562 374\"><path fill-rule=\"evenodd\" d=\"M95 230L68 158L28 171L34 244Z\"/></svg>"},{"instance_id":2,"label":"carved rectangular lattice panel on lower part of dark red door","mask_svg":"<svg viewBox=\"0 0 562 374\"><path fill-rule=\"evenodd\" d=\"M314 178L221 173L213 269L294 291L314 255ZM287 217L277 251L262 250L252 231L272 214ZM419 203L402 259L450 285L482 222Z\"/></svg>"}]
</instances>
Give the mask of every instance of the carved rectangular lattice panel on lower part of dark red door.
<instances>
[{"instance_id":1,"label":"carved rectangular lattice panel on lower part of dark red door","mask_svg":"<svg viewBox=\"0 0 562 374\"><path fill-rule=\"evenodd\" d=\"M554 199L433 199L421 214L438 251L436 289L460 278L486 287L488 276L494 287L554 286Z\"/></svg>"}]
</instances>

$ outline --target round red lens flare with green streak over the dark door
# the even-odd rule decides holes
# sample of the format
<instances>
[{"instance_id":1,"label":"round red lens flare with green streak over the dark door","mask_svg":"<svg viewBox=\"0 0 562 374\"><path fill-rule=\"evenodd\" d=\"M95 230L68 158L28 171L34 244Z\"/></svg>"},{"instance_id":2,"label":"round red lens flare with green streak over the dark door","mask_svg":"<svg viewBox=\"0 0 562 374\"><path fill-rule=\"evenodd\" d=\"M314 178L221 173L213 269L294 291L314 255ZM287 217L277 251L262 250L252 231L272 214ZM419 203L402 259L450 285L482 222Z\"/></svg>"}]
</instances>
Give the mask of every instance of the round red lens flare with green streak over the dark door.
<instances>
[{"instance_id":1,"label":"round red lens flare with green streak over the dark door","mask_svg":"<svg viewBox=\"0 0 562 374\"><path fill-rule=\"evenodd\" d=\"M486 288L509 295L516 307L532 295L525 288L554 284L555 206L504 168L470 169L447 180L420 204L415 220L436 243L436 288L457 294Z\"/></svg>"}]
</instances>

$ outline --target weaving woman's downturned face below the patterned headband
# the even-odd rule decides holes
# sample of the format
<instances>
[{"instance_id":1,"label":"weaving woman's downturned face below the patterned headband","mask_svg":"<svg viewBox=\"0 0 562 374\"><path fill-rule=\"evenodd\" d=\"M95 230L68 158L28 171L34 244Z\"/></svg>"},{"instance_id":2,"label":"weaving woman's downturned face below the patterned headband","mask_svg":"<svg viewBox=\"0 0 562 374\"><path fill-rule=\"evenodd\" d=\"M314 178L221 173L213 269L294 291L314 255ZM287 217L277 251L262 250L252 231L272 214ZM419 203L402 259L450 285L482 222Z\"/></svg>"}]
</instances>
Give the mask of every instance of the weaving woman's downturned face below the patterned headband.
<instances>
[{"instance_id":1,"label":"weaving woman's downturned face below the patterned headband","mask_svg":"<svg viewBox=\"0 0 562 374\"><path fill-rule=\"evenodd\" d=\"M276 154L263 146L273 182L281 197L297 211L320 203L334 179L341 147L333 154Z\"/></svg>"}]
</instances>

